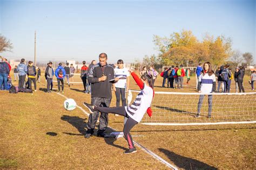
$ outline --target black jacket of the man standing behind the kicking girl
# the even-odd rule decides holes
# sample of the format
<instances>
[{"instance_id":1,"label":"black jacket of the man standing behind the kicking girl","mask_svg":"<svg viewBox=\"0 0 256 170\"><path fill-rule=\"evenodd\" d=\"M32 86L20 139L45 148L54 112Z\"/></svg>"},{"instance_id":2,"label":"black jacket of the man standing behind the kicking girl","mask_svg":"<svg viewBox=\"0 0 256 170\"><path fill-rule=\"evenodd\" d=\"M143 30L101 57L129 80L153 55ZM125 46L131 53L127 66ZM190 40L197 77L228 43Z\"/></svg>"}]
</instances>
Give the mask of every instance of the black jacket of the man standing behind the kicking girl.
<instances>
[{"instance_id":1,"label":"black jacket of the man standing behind the kicking girl","mask_svg":"<svg viewBox=\"0 0 256 170\"><path fill-rule=\"evenodd\" d=\"M107 77L105 81L100 81L99 78L103 76ZM99 63L92 66L89 70L88 81L91 83L91 97L102 97L102 98L112 98L112 82L110 80L114 79L114 68L110 65L100 66Z\"/></svg>"}]
</instances>

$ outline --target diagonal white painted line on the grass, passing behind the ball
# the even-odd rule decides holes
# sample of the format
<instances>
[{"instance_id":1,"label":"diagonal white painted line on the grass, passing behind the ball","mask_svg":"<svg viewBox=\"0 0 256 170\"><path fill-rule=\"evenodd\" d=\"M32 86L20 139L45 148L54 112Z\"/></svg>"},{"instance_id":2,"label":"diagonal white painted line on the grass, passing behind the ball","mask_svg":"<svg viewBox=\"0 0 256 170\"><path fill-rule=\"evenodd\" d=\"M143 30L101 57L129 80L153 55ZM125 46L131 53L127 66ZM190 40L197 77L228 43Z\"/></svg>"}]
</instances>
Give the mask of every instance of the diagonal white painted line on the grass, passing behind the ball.
<instances>
[{"instance_id":1,"label":"diagonal white painted line on the grass, passing behind the ball","mask_svg":"<svg viewBox=\"0 0 256 170\"><path fill-rule=\"evenodd\" d=\"M56 92L55 92L56 93ZM59 94L59 93L56 93L62 97L65 97L66 99L68 99L68 97L62 95L62 94ZM77 105L77 108L79 108L80 110L82 110L84 112L85 115L89 116L90 114L88 112L86 112L83 108L79 107L79 105ZM113 131L117 131L116 129L113 129L111 128L110 126L108 126L108 128L112 129ZM138 147L140 147L144 152L150 154L154 159L157 159L158 161L160 161L162 164L165 164L167 167L169 168L172 168L172 169L175 169L177 170L178 168L171 165L169 162L167 162L166 160L164 160L163 158L159 157L156 153L148 150L146 147L144 147L143 145L140 145L139 143L137 143L137 141L134 141L134 144L136 144Z\"/></svg>"}]
</instances>

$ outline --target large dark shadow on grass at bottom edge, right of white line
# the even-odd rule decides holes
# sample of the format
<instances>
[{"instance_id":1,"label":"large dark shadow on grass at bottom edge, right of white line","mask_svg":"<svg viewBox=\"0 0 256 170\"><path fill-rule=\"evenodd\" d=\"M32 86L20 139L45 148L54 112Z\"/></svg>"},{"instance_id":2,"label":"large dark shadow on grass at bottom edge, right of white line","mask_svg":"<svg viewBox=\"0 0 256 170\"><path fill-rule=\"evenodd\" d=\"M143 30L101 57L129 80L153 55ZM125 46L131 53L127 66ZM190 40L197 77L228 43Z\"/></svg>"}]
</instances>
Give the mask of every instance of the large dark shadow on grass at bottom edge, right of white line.
<instances>
[{"instance_id":1,"label":"large dark shadow on grass at bottom edge, right of white line","mask_svg":"<svg viewBox=\"0 0 256 170\"><path fill-rule=\"evenodd\" d=\"M187 158L181 155L178 155L174 152L165 150L164 148L158 148L158 150L164 153L178 168L183 169L217 169L213 166L205 164L196 159Z\"/></svg>"}]
</instances>

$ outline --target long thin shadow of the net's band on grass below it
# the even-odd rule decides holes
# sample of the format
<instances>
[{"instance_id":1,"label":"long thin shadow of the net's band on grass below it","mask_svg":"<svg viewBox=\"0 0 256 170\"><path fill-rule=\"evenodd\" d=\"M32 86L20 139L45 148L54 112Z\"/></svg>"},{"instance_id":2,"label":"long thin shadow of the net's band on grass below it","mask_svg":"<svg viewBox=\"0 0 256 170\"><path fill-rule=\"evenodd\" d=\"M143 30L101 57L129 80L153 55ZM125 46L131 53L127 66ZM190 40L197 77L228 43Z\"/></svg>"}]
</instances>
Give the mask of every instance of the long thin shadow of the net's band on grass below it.
<instances>
[{"instance_id":1,"label":"long thin shadow of the net's band on grass below it","mask_svg":"<svg viewBox=\"0 0 256 170\"><path fill-rule=\"evenodd\" d=\"M224 128L224 129L180 129L180 130L143 130L131 132L179 132L179 131L219 131L219 130L242 130L242 129L256 129L256 128Z\"/></svg>"}]
</instances>

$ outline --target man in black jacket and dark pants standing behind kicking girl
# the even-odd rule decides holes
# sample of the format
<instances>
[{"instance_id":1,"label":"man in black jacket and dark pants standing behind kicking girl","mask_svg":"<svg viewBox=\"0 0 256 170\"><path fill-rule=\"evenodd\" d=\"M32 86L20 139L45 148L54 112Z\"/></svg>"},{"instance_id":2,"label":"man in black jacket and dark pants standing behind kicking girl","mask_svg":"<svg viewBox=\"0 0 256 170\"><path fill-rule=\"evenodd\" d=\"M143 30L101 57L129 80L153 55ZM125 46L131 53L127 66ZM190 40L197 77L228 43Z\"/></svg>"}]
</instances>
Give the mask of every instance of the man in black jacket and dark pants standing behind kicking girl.
<instances>
[{"instance_id":1,"label":"man in black jacket and dark pants standing behind kicking girl","mask_svg":"<svg viewBox=\"0 0 256 170\"><path fill-rule=\"evenodd\" d=\"M113 86L113 81L110 82L110 80L114 79L114 68L107 65L106 60L107 54L99 54L99 63L92 66L88 73L88 81L91 83L91 104L97 107L109 107L112 99L111 88ZM98 111L90 114L85 138L90 138L90 136L93 134L98 117ZM108 122L108 114L100 113L99 127L97 132L98 137L105 136L104 131L107 128Z\"/></svg>"}]
</instances>

